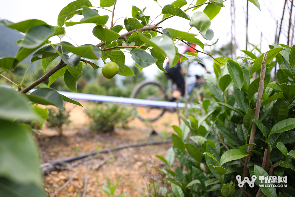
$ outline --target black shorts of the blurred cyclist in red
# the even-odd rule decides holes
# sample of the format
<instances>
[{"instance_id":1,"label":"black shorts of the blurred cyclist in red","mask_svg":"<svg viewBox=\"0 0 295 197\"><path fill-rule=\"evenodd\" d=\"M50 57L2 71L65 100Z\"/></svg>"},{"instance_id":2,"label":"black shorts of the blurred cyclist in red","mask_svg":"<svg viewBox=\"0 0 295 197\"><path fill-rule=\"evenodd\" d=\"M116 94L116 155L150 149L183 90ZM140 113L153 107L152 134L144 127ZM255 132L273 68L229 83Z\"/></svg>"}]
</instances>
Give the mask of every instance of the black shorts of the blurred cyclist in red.
<instances>
[{"instance_id":1,"label":"black shorts of the blurred cyclist in red","mask_svg":"<svg viewBox=\"0 0 295 197\"><path fill-rule=\"evenodd\" d=\"M167 71L166 75L172 79L172 81L177 84L177 89L181 92L181 96L184 95L185 83L184 78L180 72L180 63L176 64L174 67L169 69L169 62L166 65L165 70Z\"/></svg>"}]
</instances>

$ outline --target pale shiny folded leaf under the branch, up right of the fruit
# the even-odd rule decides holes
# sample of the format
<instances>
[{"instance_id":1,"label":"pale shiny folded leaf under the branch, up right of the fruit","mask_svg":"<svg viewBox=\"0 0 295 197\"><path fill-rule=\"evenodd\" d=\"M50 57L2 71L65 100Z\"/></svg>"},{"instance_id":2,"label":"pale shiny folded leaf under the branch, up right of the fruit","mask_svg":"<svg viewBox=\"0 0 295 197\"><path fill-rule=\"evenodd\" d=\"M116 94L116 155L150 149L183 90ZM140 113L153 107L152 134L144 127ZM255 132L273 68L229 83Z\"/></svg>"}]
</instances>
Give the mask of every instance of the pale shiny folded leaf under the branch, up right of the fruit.
<instances>
[{"instance_id":1,"label":"pale shiny folded leaf under the branch, up right of the fruit","mask_svg":"<svg viewBox=\"0 0 295 197\"><path fill-rule=\"evenodd\" d=\"M173 62L176 51L173 41L168 36L162 35L148 40L142 34L140 34L140 39L155 48L156 51L160 51L161 53L165 54L165 56L169 58L169 62Z\"/></svg>"}]
</instances>

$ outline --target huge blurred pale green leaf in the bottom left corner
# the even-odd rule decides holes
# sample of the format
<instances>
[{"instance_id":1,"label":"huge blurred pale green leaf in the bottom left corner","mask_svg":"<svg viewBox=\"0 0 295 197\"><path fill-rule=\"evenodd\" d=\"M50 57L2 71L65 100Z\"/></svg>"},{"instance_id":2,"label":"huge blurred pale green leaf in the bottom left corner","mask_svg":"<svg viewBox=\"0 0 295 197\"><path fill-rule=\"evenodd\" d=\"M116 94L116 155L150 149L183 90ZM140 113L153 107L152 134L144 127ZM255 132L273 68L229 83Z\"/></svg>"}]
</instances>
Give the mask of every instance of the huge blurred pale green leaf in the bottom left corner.
<instances>
[{"instance_id":1,"label":"huge blurred pale green leaf in the bottom left corner","mask_svg":"<svg viewBox=\"0 0 295 197\"><path fill-rule=\"evenodd\" d=\"M41 189L38 152L28 128L3 120L0 125L0 177Z\"/></svg>"}]
</instances>

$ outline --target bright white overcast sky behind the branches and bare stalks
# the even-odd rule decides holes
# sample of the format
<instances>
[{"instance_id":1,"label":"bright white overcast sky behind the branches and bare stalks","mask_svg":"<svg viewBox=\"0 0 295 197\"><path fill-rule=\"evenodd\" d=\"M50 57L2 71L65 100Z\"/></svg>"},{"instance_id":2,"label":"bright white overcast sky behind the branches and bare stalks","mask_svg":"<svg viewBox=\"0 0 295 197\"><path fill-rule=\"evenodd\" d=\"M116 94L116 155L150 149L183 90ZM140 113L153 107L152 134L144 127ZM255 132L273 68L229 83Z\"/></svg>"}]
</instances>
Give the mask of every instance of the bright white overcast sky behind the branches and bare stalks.
<instances>
[{"instance_id":1,"label":"bright white overcast sky behind the branches and bare stalks","mask_svg":"<svg viewBox=\"0 0 295 197\"><path fill-rule=\"evenodd\" d=\"M188 3L191 3L192 0L188 0ZM248 27L248 37L249 42L253 43L255 45L258 45L260 43L260 35L262 32L262 52L268 51L268 45L274 43L275 39L275 32L276 32L276 20L279 20L282 15L283 11L283 0L258 0L260 2L261 12L259 9L254 6L252 3L249 2L249 27ZM0 18L7 19L12 22L19 22L27 19L40 19L45 22L47 22L49 25L57 25L57 17L60 10L66 6L71 1L68 0L50 0L50 1L40 1L40 0L9 0L9 1L1 1L0 3ZM93 6L99 6L99 1L91 1ZM164 7L166 4L171 4L173 0L158 0L158 3ZM194 1L194 3L196 0ZM140 9L143 9L145 6L147 6L144 14L151 16L151 19L154 19L156 16L158 16L159 13L161 13L160 6L153 0L146 0L146 1L139 1L139 0L118 0L116 4L116 9L114 13L114 20L119 17L132 17L131 15L131 8L132 5L137 6ZM235 19L235 25L236 25L236 40L237 40L237 55L243 55L243 53L240 53L239 50L245 50L245 44L246 44L246 36L245 36L245 21L246 21L246 0L235 0L235 8L236 8L236 19ZM186 9L188 5L183 6L183 9ZM187 14L189 16L192 16L197 11L203 11L206 5L203 5L202 7L198 8L197 10L191 11L190 9ZM222 45L225 45L230 42L231 40L231 18L230 18L230 0L227 0L224 2L224 6L221 8L221 11L211 21L210 28L214 31L214 38L211 41L205 40L201 37L201 35L198 35L196 38L201 40L202 42L211 44L214 43L217 38L219 38L219 42L215 45L215 48L219 48ZM100 15L110 15L111 12L106 11L104 9L99 9ZM109 7L107 9L111 9L112 7ZM283 31L280 37L280 42L283 44L286 44L286 32L287 32L287 26L288 26L288 19L289 19L289 11L287 11L285 15L285 20L283 22ZM158 22L160 19L162 19L161 15L157 19L155 19L155 22ZM80 21L82 16L76 15L71 20L74 22ZM110 26L111 17L109 18L109 21L106 25ZM119 19L116 25L123 25L124 19ZM99 43L99 40L94 37L92 34L92 29L95 26L95 24L80 24L80 25L74 25L71 27L65 27L66 35L68 35L70 38L75 40L75 42L78 45L83 44L94 44L96 45ZM160 27L163 28L173 28L176 30L181 31L188 31L189 26L189 20L183 19L181 17L173 17L171 19L166 20L163 22ZM120 32L124 33L126 30L122 30ZM196 28L192 28L189 32L199 34L198 30ZM53 38L50 38L50 40L53 43L60 42L59 38L56 36ZM73 43L69 38L64 37L62 41L68 41L70 43ZM293 41L293 43L295 40ZM199 50L201 50L200 47L198 47ZM205 47L205 51L209 51L209 47ZM257 54L256 54L257 55ZM1 55L0 55L1 56ZM125 64L128 66L131 66L133 64L133 60L129 54L125 53L126 61ZM200 54L199 57L205 58L204 55ZM211 59L204 59L207 67L209 70L212 70L212 60ZM156 73L155 69L157 67L155 65L149 66L148 68L143 69L145 72L145 75L149 76L149 78L152 78L152 76Z\"/></svg>"}]
</instances>

